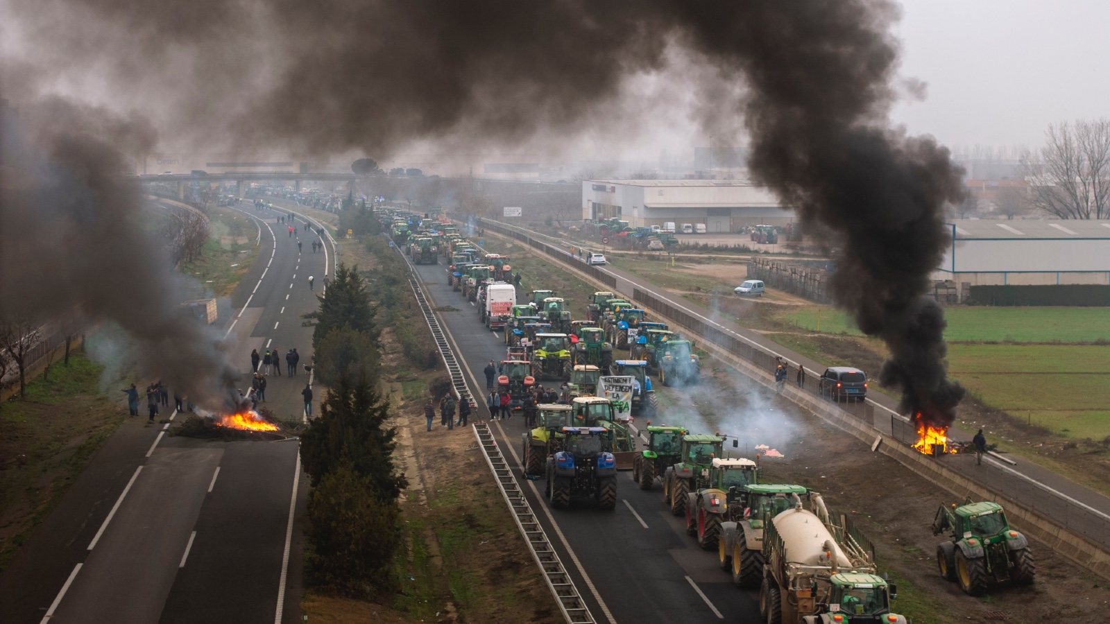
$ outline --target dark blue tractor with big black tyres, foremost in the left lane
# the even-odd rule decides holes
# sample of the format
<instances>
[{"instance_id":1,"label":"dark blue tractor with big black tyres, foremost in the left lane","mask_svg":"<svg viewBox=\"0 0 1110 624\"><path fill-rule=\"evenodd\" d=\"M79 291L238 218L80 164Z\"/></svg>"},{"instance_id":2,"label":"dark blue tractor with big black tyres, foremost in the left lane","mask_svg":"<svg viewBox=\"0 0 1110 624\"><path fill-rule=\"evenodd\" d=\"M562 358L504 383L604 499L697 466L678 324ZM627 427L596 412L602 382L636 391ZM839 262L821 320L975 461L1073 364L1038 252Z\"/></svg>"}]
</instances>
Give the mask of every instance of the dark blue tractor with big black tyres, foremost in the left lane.
<instances>
[{"instance_id":1,"label":"dark blue tractor with big black tyres, foremost in the left lane","mask_svg":"<svg viewBox=\"0 0 1110 624\"><path fill-rule=\"evenodd\" d=\"M563 449L547 457L544 495L557 510L571 499L586 497L603 510L617 504L617 466L610 452L610 432L604 426L565 426Z\"/></svg>"}]
</instances>

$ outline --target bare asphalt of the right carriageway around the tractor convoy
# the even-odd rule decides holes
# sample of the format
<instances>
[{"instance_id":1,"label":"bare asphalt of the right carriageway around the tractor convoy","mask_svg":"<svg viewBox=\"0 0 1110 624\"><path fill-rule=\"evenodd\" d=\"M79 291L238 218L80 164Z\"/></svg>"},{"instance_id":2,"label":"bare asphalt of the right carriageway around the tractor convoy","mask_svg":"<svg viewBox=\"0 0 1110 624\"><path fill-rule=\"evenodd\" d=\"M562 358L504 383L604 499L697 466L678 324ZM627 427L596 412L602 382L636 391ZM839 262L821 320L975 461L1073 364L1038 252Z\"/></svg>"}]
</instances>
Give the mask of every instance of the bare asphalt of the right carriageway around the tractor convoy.
<instances>
[{"instance_id":1,"label":"bare asphalt of the right carriageway around the tractor convoy","mask_svg":"<svg viewBox=\"0 0 1110 624\"><path fill-rule=\"evenodd\" d=\"M484 396L482 369L490 360L505 358L503 334L486 330L478 322L477 309L447 285L442 256L440 264L413 269L433 305L461 309L437 315L468 370L472 392ZM478 413L487 416L484 406ZM717 566L716 551L698 548L686 535L685 520L670 515L664 505L658 484L644 492L630 472L622 472L615 511L588 504L551 510L539 496L544 482L521 476L523 419L496 421L492 430L502 449L508 450L507 460L522 491L597 622L758 621L758 593L736 588Z\"/></svg>"}]
</instances>

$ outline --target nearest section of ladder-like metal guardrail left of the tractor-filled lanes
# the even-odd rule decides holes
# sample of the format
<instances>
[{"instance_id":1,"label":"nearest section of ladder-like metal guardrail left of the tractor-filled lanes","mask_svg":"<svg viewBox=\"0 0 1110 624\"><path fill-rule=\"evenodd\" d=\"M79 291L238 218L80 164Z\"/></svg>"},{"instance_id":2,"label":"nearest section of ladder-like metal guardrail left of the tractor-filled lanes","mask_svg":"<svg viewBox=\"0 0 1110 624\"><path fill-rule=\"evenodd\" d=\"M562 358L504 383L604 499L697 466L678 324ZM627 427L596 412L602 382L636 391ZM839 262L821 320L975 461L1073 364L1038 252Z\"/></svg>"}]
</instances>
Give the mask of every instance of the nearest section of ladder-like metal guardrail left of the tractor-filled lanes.
<instances>
[{"instance_id":1,"label":"nearest section of ladder-like metal guardrail left of the tractor-filled lanes","mask_svg":"<svg viewBox=\"0 0 1110 624\"><path fill-rule=\"evenodd\" d=\"M521 492L516 477L513 476L512 470L497 446L497 441L494 440L493 432L490 431L490 425L476 422L473 426L474 437L482 446L482 454L485 456L490 471L493 472L497 489L501 490L501 495L504 496L505 503L513 512L513 520L516 522L516 527L521 530L521 534L524 535L524 541L527 542L532 556L544 573L544 581L552 595L555 596L555 602L558 604L559 611L563 612L563 617L571 624L593 624L594 617L589 614L582 596L578 595L578 590L575 588L574 581L563 567L558 554L547 541L547 535L532 512L528 500Z\"/></svg>"}]
</instances>

